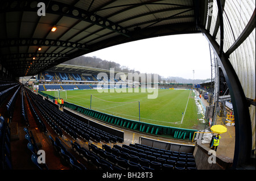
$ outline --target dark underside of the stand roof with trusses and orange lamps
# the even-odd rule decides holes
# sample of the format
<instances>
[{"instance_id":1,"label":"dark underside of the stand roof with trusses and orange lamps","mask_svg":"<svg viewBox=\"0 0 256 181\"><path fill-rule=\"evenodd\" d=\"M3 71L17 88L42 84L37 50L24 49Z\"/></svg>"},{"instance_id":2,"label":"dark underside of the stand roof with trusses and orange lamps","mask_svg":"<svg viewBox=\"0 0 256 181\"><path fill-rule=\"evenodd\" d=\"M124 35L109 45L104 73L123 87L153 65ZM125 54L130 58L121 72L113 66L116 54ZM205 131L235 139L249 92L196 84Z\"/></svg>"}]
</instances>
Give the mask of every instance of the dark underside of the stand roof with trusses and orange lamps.
<instances>
[{"instance_id":1,"label":"dark underside of the stand roof with trusses and orange lamps","mask_svg":"<svg viewBox=\"0 0 256 181\"><path fill-rule=\"evenodd\" d=\"M15 77L129 41L199 33L208 10L206 1L193 0L40 2L45 16L38 15L39 1L1 1L0 61Z\"/></svg>"}]
</instances>

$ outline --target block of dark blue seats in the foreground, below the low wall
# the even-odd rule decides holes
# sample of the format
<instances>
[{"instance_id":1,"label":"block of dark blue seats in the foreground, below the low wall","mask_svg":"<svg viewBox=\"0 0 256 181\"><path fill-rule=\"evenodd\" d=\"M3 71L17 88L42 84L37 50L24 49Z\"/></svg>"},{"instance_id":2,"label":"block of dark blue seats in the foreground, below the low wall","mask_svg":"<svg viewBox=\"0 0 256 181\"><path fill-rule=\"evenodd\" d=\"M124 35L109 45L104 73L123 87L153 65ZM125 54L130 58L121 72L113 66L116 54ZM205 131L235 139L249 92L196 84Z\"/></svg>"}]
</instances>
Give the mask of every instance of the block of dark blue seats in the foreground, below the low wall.
<instances>
[{"instance_id":1,"label":"block of dark blue seats in the foreground, below the low wall","mask_svg":"<svg viewBox=\"0 0 256 181\"><path fill-rule=\"evenodd\" d=\"M106 170L196 170L196 163L191 153L160 150L141 144L122 146L103 144L102 149L89 144L89 150L82 148L79 143L71 142L72 149L92 162L98 169ZM155 154L158 157L152 157ZM177 155L172 157L171 155ZM154 159L152 159L154 158ZM175 159L177 158L177 159ZM179 159L182 158L182 162Z\"/></svg>"}]
</instances>

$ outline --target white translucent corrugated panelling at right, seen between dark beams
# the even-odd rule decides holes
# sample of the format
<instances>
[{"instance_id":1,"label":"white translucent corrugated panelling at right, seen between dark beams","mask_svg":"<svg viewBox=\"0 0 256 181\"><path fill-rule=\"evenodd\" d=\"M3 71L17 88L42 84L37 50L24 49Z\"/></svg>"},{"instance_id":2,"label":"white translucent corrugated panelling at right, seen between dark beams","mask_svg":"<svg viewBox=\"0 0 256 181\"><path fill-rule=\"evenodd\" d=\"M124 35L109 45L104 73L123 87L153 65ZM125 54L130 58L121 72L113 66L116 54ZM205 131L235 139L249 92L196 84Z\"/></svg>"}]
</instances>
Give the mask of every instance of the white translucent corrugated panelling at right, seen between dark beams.
<instances>
[{"instance_id":1,"label":"white translucent corrugated panelling at right, seen between dark beams","mask_svg":"<svg viewBox=\"0 0 256 181\"><path fill-rule=\"evenodd\" d=\"M213 34L217 19L217 3L214 2L210 33ZM255 1L226 0L224 7L224 52L241 35L255 9ZM220 44L220 28L216 35ZM230 54L229 58L237 73L245 96L255 99L255 28L245 41ZM249 108L253 129L253 149L255 149L255 106Z\"/></svg>"}]
</instances>

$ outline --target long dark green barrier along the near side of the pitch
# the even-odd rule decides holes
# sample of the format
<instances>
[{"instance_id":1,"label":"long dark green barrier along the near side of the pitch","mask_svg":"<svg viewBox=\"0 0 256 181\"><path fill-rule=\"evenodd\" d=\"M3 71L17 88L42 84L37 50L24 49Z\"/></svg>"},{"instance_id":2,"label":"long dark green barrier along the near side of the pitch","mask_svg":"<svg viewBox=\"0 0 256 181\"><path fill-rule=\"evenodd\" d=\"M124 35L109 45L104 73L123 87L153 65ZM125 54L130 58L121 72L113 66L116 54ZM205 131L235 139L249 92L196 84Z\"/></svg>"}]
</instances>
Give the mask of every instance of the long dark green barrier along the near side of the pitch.
<instances>
[{"instance_id":1,"label":"long dark green barrier along the near side of the pitch","mask_svg":"<svg viewBox=\"0 0 256 181\"><path fill-rule=\"evenodd\" d=\"M38 93L43 96L48 96L50 99L55 99L55 97L45 94L41 91L38 91ZM158 135L161 137L174 138L177 140L184 140L184 141L186 140L192 141L194 134L196 136L195 132L197 132L196 129L167 127L167 126L150 124L150 123L142 123L141 121L129 120L123 117L113 116L107 113L90 110L89 108L81 107L76 104L72 104L68 102L64 102L64 107L80 112L86 116L92 117L93 119L104 121L108 124L113 124L121 128L130 129L132 131Z\"/></svg>"}]
</instances>

